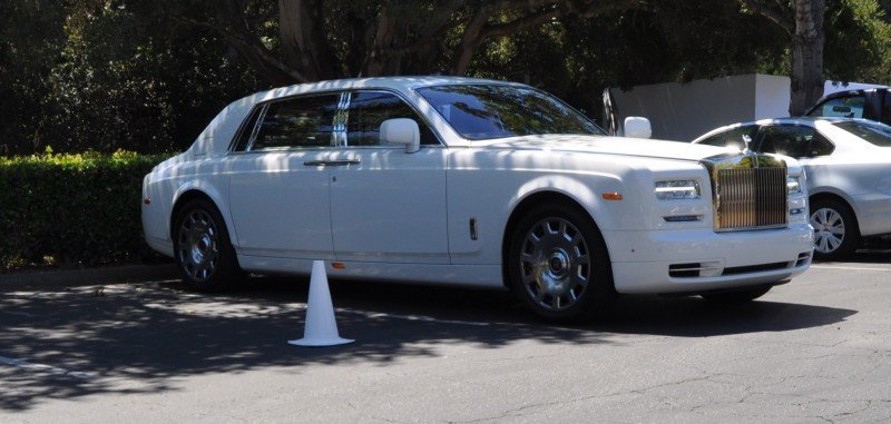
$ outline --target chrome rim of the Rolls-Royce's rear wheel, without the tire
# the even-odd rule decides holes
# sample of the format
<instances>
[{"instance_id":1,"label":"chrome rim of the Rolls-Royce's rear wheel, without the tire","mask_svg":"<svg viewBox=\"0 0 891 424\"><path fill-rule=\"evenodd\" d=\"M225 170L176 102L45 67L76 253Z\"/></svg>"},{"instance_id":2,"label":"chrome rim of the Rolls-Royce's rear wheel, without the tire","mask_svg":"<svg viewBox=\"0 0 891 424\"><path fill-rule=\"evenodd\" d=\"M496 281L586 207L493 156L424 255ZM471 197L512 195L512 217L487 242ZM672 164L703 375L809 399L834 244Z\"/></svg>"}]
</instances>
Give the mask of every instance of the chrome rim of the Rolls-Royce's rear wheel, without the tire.
<instances>
[{"instance_id":1,"label":"chrome rim of the Rolls-Royce's rear wheel, without the tire","mask_svg":"<svg viewBox=\"0 0 891 424\"><path fill-rule=\"evenodd\" d=\"M219 259L217 229L210 215L200 209L189 213L179 225L177 241L183 270L196 282L209 279Z\"/></svg>"}]
</instances>

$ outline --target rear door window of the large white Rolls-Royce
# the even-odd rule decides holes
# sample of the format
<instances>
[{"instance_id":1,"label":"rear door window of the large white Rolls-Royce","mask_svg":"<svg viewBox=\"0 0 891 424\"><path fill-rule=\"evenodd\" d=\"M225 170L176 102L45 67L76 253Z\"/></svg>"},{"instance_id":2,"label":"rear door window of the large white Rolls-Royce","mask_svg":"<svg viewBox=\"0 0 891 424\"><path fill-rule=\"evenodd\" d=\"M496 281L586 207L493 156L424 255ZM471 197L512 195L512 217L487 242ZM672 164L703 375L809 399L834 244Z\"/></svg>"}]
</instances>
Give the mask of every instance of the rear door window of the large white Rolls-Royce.
<instances>
[{"instance_id":1,"label":"rear door window of the large white Rolls-Royce","mask_svg":"<svg viewBox=\"0 0 891 424\"><path fill-rule=\"evenodd\" d=\"M321 95L268 103L251 150L334 146L339 99Z\"/></svg>"}]
</instances>

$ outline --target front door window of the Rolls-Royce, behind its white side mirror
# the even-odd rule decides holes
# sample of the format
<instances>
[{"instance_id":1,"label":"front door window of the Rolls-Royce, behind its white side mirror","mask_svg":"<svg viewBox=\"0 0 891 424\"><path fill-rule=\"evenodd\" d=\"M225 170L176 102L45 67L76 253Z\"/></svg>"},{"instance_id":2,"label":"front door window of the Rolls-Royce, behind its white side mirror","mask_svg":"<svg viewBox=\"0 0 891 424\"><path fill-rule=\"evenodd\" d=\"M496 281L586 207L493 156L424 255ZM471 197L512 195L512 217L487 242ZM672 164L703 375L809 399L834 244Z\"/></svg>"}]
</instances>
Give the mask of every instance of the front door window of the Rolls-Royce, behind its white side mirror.
<instances>
[{"instance_id":1,"label":"front door window of the Rolls-Royce, behind its white side mirror","mask_svg":"<svg viewBox=\"0 0 891 424\"><path fill-rule=\"evenodd\" d=\"M398 96L385 91L359 91L346 96L350 97L347 146L379 146L381 124L394 118L409 118L418 122L421 145L439 145L427 124Z\"/></svg>"}]
</instances>

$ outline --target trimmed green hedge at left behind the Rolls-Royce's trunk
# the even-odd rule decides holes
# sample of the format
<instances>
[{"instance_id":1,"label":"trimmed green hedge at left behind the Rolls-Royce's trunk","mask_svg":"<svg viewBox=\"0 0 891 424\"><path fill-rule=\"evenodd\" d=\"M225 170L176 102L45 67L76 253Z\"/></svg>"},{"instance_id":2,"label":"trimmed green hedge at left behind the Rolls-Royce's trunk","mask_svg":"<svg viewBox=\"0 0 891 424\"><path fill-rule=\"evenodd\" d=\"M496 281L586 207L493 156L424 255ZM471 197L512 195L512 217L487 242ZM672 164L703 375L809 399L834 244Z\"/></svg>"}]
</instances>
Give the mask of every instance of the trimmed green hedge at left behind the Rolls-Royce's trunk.
<instances>
[{"instance_id":1,"label":"trimmed green hedge at left behind the Rolls-Royce's trunk","mask_svg":"<svg viewBox=\"0 0 891 424\"><path fill-rule=\"evenodd\" d=\"M0 272L153 256L143 238L143 177L168 156L0 158Z\"/></svg>"}]
</instances>

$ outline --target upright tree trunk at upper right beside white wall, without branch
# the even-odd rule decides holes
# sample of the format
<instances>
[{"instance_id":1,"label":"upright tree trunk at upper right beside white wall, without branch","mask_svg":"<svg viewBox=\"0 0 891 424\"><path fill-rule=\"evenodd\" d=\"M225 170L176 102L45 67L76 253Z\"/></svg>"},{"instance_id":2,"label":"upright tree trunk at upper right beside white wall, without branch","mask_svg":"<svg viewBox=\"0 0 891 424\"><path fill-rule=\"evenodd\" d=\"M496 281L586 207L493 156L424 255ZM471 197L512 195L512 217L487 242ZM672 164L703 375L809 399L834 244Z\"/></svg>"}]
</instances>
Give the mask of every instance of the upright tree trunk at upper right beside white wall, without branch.
<instances>
[{"instance_id":1,"label":"upright tree trunk at upper right beside white wall, without branch","mask_svg":"<svg viewBox=\"0 0 891 424\"><path fill-rule=\"evenodd\" d=\"M795 0L791 116L803 115L823 95L824 6L824 0Z\"/></svg>"}]
</instances>

